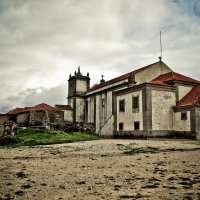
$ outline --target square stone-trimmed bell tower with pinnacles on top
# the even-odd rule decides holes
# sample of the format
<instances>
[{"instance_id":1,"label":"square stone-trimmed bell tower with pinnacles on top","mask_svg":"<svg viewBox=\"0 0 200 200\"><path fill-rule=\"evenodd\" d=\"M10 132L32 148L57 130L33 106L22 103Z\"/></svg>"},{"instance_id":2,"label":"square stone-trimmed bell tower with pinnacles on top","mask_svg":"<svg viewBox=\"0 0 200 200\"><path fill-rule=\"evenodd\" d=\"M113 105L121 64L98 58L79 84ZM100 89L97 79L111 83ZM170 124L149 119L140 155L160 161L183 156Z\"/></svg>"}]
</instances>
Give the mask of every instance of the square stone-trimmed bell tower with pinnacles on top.
<instances>
[{"instance_id":1,"label":"square stone-trimmed bell tower with pinnacles on top","mask_svg":"<svg viewBox=\"0 0 200 200\"><path fill-rule=\"evenodd\" d=\"M73 122L85 121L85 99L84 95L90 88L89 73L83 76L78 67L74 76L69 75L68 80L68 104L73 108Z\"/></svg>"}]
</instances>

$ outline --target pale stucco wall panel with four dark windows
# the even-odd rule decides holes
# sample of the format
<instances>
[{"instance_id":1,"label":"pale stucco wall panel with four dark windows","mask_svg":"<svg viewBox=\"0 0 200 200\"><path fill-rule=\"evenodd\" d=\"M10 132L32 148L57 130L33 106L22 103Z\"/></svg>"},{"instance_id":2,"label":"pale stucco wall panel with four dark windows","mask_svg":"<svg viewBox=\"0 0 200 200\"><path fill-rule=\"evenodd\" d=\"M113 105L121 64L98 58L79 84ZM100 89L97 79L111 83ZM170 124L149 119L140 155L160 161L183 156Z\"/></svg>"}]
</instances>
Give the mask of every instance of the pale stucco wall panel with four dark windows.
<instances>
[{"instance_id":1,"label":"pale stucco wall panel with four dark windows","mask_svg":"<svg viewBox=\"0 0 200 200\"><path fill-rule=\"evenodd\" d=\"M139 96L139 109L132 109L132 98ZM125 100L125 112L119 112L119 101ZM143 108L142 108L142 91L131 92L126 95L117 97L117 130L119 123L123 123L124 131L133 131L134 122L139 122L139 130L143 130Z\"/></svg>"}]
</instances>

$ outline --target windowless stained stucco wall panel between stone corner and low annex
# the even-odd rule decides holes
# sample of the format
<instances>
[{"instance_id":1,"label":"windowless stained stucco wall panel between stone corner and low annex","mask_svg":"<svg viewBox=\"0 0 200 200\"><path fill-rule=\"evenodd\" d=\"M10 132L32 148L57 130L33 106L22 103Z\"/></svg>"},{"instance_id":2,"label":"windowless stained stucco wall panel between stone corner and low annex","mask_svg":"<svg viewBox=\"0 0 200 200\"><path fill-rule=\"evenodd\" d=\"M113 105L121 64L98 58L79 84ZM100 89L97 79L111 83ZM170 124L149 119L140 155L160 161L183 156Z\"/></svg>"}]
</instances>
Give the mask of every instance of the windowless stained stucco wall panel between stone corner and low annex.
<instances>
[{"instance_id":1,"label":"windowless stained stucco wall panel between stone corner and low annex","mask_svg":"<svg viewBox=\"0 0 200 200\"><path fill-rule=\"evenodd\" d=\"M173 130L174 92L152 90L152 130Z\"/></svg>"}]
</instances>

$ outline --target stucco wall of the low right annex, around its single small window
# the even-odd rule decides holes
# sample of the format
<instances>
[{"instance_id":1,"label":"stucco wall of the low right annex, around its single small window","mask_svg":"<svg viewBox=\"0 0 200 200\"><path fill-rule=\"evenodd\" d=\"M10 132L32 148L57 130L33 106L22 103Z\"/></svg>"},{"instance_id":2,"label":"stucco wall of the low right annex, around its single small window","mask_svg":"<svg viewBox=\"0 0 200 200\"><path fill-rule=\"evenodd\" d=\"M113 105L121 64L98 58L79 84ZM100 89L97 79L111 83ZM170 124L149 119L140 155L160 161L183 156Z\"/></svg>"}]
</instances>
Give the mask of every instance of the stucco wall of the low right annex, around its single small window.
<instances>
[{"instance_id":1,"label":"stucco wall of the low right annex, around its single small window","mask_svg":"<svg viewBox=\"0 0 200 200\"><path fill-rule=\"evenodd\" d=\"M187 113L187 119L181 120L181 112L174 113L174 130L175 131L190 131L190 111L185 111Z\"/></svg>"}]
</instances>

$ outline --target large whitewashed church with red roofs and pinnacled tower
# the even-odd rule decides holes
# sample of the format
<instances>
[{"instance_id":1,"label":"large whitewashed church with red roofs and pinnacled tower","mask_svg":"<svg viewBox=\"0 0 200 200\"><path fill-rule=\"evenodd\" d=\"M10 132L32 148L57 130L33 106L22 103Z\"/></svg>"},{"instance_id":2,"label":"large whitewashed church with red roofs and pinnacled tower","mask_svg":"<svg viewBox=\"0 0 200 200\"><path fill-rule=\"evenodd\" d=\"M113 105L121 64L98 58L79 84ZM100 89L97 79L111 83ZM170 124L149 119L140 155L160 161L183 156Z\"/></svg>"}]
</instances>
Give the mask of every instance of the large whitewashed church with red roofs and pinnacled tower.
<instances>
[{"instance_id":1,"label":"large whitewashed church with red roofs and pinnacled tower","mask_svg":"<svg viewBox=\"0 0 200 200\"><path fill-rule=\"evenodd\" d=\"M111 137L200 136L200 82L162 61L90 87L89 74L69 77L73 122Z\"/></svg>"}]
</instances>

